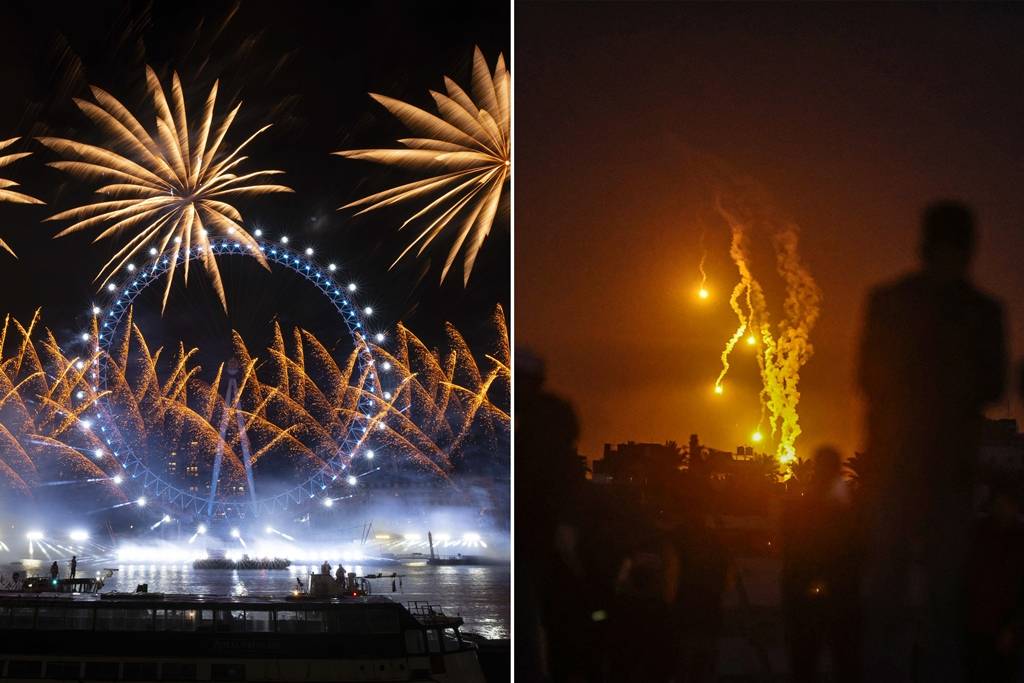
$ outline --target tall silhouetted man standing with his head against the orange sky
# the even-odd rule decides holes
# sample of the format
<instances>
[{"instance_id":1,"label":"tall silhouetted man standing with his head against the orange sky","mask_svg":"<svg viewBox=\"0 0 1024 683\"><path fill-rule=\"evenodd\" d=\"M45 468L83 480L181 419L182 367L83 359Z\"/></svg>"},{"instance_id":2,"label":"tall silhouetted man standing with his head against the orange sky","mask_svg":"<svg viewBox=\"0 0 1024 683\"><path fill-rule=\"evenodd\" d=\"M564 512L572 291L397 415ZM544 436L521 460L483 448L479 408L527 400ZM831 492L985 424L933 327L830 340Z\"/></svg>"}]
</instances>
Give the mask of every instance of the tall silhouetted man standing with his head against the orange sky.
<instances>
[{"instance_id":1,"label":"tall silhouetted man standing with his head against the orange sky","mask_svg":"<svg viewBox=\"0 0 1024 683\"><path fill-rule=\"evenodd\" d=\"M968 280L974 219L929 207L919 272L871 292L860 348L867 398L865 679L963 680L964 562L981 411L1004 389L1000 305ZM916 573L914 573L916 567ZM920 589L920 590L919 590Z\"/></svg>"}]
</instances>

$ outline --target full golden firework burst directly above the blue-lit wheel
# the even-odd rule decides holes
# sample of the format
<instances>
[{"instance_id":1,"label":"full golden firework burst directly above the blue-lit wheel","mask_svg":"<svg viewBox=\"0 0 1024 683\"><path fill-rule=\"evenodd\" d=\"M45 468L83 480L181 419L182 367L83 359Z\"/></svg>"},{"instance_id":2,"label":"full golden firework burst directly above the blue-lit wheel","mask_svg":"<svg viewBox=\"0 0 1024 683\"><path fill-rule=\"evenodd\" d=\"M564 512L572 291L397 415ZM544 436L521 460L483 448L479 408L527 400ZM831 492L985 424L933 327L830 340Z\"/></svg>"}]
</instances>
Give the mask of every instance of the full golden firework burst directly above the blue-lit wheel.
<instances>
[{"instance_id":1,"label":"full golden firework burst directly above the blue-lit wheel","mask_svg":"<svg viewBox=\"0 0 1024 683\"><path fill-rule=\"evenodd\" d=\"M95 103L77 98L75 102L110 135L109 147L57 137L39 138L47 147L67 158L52 162L50 166L106 183L97 187L96 193L110 198L62 211L47 220L76 221L56 237L101 225L105 228L95 241L126 230L133 232L100 268L96 275L100 287L130 259L150 247L152 256L170 259L164 307L167 306L179 258L184 267L185 282L188 281L189 261L199 258L226 309L224 289L216 259L210 250L208 230L216 230L238 241L266 267L256 241L243 227L242 214L227 200L292 191L285 185L263 182L266 176L284 171L239 172L239 166L248 159L242 151L270 126L260 128L242 144L227 152L224 138L241 104L214 126L217 83L213 84L206 98L199 125L189 131L178 75L175 73L171 77L170 99L157 74L148 67L145 80L157 114L154 134L151 135L113 95L93 86L91 90Z\"/></svg>"}]
</instances>

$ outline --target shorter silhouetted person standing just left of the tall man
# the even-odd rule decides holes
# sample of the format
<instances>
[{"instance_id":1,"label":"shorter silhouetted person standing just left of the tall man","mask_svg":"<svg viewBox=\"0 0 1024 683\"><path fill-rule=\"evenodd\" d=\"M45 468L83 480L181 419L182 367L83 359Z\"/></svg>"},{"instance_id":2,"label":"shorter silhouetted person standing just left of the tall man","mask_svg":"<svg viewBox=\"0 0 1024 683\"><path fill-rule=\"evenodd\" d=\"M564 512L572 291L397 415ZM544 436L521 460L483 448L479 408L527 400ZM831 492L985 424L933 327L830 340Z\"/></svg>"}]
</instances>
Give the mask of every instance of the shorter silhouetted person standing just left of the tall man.
<instances>
[{"instance_id":1,"label":"shorter silhouetted person standing just left of the tall man","mask_svg":"<svg viewBox=\"0 0 1024 683\"><path fill-rule=\"evenodd\" d=\"M814 455L806 486L786 499L782 512L782 608L790 671L795 683L821 680L827 647L829 680L860 680L860 539L838 451Z\"/></svg>"}]
</instances>

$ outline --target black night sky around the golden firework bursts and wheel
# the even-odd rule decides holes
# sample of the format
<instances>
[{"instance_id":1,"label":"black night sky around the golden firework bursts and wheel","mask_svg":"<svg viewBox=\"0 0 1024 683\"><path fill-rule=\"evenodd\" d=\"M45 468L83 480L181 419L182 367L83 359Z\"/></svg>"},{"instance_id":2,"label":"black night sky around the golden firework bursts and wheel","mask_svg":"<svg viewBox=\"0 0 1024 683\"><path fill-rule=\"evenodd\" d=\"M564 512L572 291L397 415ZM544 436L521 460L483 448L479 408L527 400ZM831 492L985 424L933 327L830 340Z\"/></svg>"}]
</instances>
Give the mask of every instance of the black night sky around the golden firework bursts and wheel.
<instances>
[{"instance_id":1,"label":"black night sky around the golden firework bursts and wheel","mask_svg":"<svg viewBox=\"0 0 1024 683\"><path fill-rule=\"evenodd\" d=\"M400 319L428 343L440 343L443 322L451 321L471 345L489 343L495 306L507 310L509 303L508 206L496 220L468 288L461 261L438 285L449 242L438 244L432 261L410 260L389 271L412 239L396 228L415 209L361 217L336 209L422 176L330 153L393 147L408 136L368 91L433 111L428 90L442 90L443 76L468 89L474 45L492 67L499 52L509 59L507 3L11 2L0 6L0 138L58 135L101 143L99 131L72 101L89 98L89 84L111 92L152 125L144 96L146 63L165 88L171 71L178 71L196 118L219 78L215 121L243 101L228 141L238 144L272 123L247 148L247 167L282 169L282 182L296 190L239 200L250 229L287 233L293 247L312 246L325 262L348 268L383 327ZM5 168L3 177L17 180L19 189L48 206L0 204L0 234L19 257L0 256L0 311L28 319L42 306L44 322L58 336L71 335L86 322L95 272L123 242L93 245L95 231L52 240L68 223L40 221L90 199L92 185L46 167L57 156L34 141L23 140L12 151L35 154ZM151 305L136 311L151 343L183 339L203 346L207 360L216 362L229 352L231 328L259 341L278 317L286 328L306 327L347 351L341 348L350 346L343 326L311 286L297 276L270 278L253 263L239 261L221 264L227 317L201 268L190 273L187 289L175 286L163 317L162 292L151 288Z\"/></svg>"}]
</instances>

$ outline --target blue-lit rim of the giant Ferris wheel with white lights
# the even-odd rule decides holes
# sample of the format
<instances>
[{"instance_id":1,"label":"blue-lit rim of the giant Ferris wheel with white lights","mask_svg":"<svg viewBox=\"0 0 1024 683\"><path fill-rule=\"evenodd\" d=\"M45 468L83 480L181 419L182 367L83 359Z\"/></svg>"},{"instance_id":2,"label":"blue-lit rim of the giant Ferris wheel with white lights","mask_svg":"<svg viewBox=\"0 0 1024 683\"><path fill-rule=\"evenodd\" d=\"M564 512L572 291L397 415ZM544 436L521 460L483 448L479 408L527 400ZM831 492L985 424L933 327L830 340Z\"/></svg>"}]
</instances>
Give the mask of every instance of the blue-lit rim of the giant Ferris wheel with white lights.
<instances>
[{"instance_id":1,"label":"blue-lit rim of the giant Ferris wheel with white lights","mask_svg":"<svg viewBox=\"0 0 1024 683\"><path fill-rule=\"evenodd\" d=\"M356 286L339 282L339 278L343 274L342 269L333 263L328 265L318 263L312 258L312 250L307 249L305 253L301 253L290 249L285 244L287 239L283 239L282 243L279 244L261 239L257 239L256 243L270 266L271 273L275 270L290 270L315 287L330 301L344 323L352 343L358 351L360 374L369 374L372 378L373 369L371 366L374 358L368 339L370 333L365 326L364 316L372 314L373 311L366 307L360 312L360 308L355 302ZM231 240L213 241L210 243L210 249L217 257L254 258L252 247L246 247ZM183 263L186 257L195 259L199 255L198 249L195 248L187 255L179 255L178 265ZM100 362L98 358L110 356L113 353L112 345L123 333L122 328L128 319L133 302L151 285L160 281L171 265L169 256L159 256L144 266L137 268L128 266L120 282L112 282L104 288L103 293L106 296L106 301L93 307L92 313L96 319L98 334L96 339L90 339L89 343L91 345L90 351L97 357L92 376L100 395L108 388L110 368L109 364ZM374 335L375 341L383 341L383 334L374 333ZM375 388L371 386L368 390L372 392L375 391ZM239 500L218 497L219 455L214 465L211 490L208 495L186 490L155 472L146 465L145 459L140 457L140 454L135 453L129 440L122 436L114 419L116 409L108 401L108 397L100 397L96 401L95 427L100 430L100 436L105 440L111 454L118 459L124 468L125 483L135 485L140 489L139 500L159 501L169 508L197 517L259 516L316 500L324 501L326 505L330 506L332 499L329 495L325 495L325 492L338 485L339 482L353 485L355 483L354 475L357 473L355 471L355 467L357 467L355 458L358 449L362 447L360 444L366 441L367 431L371 427L370 415L375 409L372 399L359 398L358 416L350 422L347 433L344 438L339 439L335 452L325 458L324 464L312 476L308 476L283 493L260 498L252 485L252 471L247 459L246 472L250 483L249 498ZM368 451L368 454L370 457L373 456L372 451Z\"/></svg>"}]
</instances>

